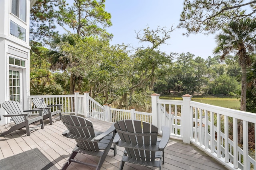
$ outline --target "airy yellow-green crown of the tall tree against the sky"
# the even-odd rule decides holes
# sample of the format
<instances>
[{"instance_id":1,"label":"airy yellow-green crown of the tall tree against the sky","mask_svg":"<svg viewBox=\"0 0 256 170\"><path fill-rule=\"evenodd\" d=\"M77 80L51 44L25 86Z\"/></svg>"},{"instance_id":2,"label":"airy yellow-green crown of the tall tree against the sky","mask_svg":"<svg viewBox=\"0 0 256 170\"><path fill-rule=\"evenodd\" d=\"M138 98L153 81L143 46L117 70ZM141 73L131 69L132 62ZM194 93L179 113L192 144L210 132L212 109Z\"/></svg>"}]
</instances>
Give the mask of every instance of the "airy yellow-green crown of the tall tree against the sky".
<instances>
[{"instance_id":1,"label":"airy yellow-green crown of the tall tree against the sky","mask_svg":"<svg viewBox=\"0 0 256 170\"><path fill-rule=\"evenodd\" d=\"M111 38L105 28L112 25L110 13L105 11L105 0L73 0L73 4L61 11L60 21L82 37L99 35ZM66 24L66 25L65 25Z\"/></svg>"}]
</instances>

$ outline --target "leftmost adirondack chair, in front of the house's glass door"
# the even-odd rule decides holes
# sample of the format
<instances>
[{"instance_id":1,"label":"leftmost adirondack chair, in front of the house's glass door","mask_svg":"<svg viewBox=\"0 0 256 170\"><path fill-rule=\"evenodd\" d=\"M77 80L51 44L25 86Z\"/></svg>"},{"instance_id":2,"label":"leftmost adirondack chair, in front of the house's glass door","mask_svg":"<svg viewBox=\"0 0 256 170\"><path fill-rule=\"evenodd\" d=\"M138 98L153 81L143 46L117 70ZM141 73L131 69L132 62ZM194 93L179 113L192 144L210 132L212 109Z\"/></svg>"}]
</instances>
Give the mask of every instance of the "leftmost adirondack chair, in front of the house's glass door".
<instances>
[{"instance_id":1,"label":"leftmost adirondack chair, in front of the house's glass door","mask_svg":"<svg viewBox=\"0 0 256 170\"><path fill-rule=\"evenodd\" d=\"M26 133L29 136L30 131L36 129L37 127L41 127L41 129L44 128L44 122L43 122L43 116L42 116L43 109L22 110L20 104L16 101L6 101L2 104L2 107L8 113L8 115L3 115L3 117L11 117L15 125L12 126L8 131L2 133L1 136L9 134L23 127L26 127ZM29 116L29 113L33 111L38 111L39 116L38 115ZM25 112L29 112L29 113L25 113ZM35 125L34 127L29 126L30 124L36 123L38 121L40 121L39 125Z\"/></svg>"}]
</instances>

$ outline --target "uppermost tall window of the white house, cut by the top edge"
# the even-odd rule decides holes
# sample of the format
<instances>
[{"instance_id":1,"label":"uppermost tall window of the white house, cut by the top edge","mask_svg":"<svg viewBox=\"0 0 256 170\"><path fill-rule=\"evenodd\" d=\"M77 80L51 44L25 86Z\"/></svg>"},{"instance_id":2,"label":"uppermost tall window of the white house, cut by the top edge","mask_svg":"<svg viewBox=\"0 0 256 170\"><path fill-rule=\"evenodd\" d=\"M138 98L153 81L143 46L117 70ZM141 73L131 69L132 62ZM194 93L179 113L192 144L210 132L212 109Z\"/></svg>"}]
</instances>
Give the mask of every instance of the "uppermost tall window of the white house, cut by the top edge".
<instances>
[{"instance_id":1,"label":"uppermost tall window of the white house, cut by the top edge","mask_svg":"<svg viewBox=\"0 0 256 170\"><path fill-rule=\"evenodd\" d=\"M26 0L12 0L12 14L26 22Z\"/></svg>"}]
</instances>

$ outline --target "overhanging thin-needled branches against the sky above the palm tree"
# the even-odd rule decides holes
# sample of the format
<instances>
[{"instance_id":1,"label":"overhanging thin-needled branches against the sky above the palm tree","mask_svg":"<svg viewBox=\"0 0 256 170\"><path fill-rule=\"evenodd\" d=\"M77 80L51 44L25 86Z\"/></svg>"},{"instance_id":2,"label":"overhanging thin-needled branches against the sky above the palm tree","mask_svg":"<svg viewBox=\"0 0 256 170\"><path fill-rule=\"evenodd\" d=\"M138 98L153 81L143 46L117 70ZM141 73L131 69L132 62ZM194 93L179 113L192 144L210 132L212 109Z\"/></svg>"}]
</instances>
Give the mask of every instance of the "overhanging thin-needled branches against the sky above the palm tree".
<instances>
[{"instance_id":1,"label":"overhanging thin-needled branches against the sky above the palm tree","mask_svg":"<svg viewBox=\"0 0 256 170\"><path fill-rule=\"evenodd\" d=\"M184 0L179 27L191 33L214 33L230 21L240 20L246 16L254 18L254 1L243 0ZM247 9L247 10L244 10Z\"/></svg>"}]
</instances>

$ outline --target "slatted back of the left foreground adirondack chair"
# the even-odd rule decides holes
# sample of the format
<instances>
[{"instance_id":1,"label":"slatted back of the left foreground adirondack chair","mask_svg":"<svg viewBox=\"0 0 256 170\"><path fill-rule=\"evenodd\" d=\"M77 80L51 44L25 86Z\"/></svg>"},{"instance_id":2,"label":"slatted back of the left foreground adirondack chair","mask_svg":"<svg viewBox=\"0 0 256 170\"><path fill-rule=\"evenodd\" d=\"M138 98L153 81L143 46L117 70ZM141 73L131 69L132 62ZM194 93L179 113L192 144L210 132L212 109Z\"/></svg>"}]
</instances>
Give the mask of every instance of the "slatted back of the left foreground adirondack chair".
<instances>
[{"instance_id":1,"label":"slatted back of the left foreground adirondack chair","mask_svg":"<svg viewBox=\"0 0 256 170\"><path fill-rule=\"evenodd\" d=\"M76 140L78 147L91 152L99 152L98 143L92 140L95 137L92 122L76 115L63 115L63 124Z\"/></svg>"}]
</instances>

